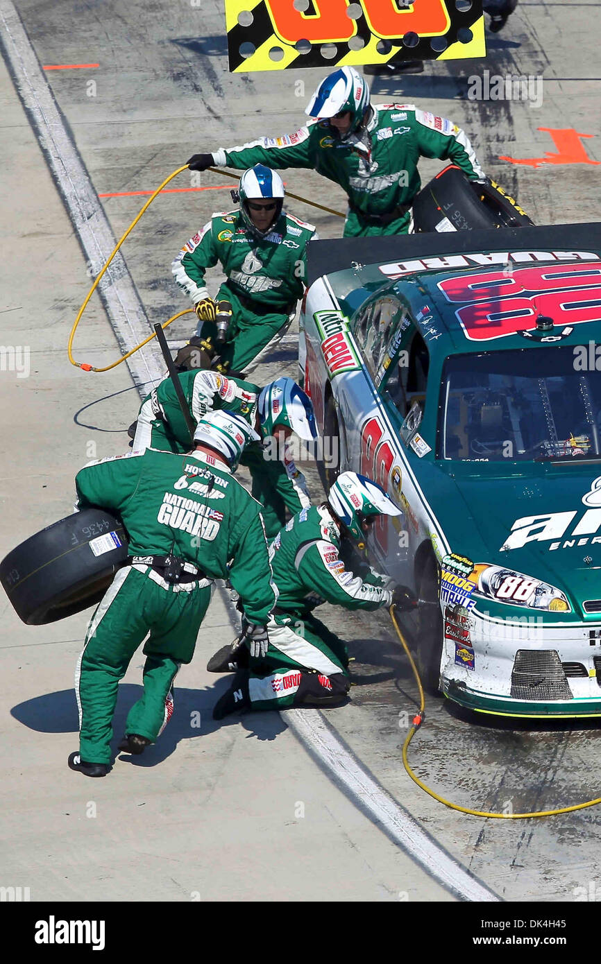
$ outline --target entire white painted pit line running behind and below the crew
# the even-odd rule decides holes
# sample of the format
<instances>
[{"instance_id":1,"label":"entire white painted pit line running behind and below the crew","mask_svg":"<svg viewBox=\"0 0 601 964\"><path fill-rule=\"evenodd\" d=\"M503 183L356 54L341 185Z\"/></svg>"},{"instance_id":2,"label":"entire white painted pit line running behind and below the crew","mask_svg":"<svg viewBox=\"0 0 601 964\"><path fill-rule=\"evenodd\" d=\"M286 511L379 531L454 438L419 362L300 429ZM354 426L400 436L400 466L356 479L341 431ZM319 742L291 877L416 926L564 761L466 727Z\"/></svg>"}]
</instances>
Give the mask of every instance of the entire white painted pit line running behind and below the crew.
<instances>
[{"instance_id":1,"label":"entire white painted pit line running behind and below the crew","mask_svg":"<svg viewBox=\"0 0 601 964\"><path fill-rule=\"evenodd\" d=\"M10 0L0 0L0 40L14 84L37 132L41 148L54 174L68 213L88 259L96 266L106 260L115 246L112 229L98 201L77 148L61 115L40 63ZM111 326L123 350L128 351L149 334L148 319L135 285L120 254L110 269L110 281L101 282ZM108 274L108 273L107 273ZM162 377L160 355L153 347L142 349L127 360L134 382ZM140 394L146 394L143 388ZM232 602L220 585L230 614ZM434 878L464 900L494 901L495 894L484 887L430 838L396 801L369 775L340 737L326 725L317 710L287 710L286 722L329 775L353 802L399 847L409 853Z\"/></svg>"}]
</instances>

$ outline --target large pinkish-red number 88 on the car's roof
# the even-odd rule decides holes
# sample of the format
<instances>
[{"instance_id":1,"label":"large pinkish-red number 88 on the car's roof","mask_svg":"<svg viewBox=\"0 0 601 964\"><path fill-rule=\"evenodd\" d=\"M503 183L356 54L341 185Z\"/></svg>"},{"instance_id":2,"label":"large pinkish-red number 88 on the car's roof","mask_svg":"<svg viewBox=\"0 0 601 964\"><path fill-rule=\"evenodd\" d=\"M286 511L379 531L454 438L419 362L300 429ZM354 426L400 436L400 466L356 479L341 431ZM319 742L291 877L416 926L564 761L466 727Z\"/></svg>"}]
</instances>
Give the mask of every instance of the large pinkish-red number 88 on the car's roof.
<instances>
[{"instance_id":1,"label":"large pinkish-red number 88 on the car's roof","mask_svg":"<svg viewBox=\"0 0 601 964\"><path fill-rule=\"evenodd\" d=\"M558 324L570 325L601 318L598 262L518 268L511 275L463 275L440 281L438 287L447 301L463 303L456 315L467 337L475 341L533 328L538 314L562 315ZM522 293L533 297L516 297Z\"/></svg>"}]
</instances>

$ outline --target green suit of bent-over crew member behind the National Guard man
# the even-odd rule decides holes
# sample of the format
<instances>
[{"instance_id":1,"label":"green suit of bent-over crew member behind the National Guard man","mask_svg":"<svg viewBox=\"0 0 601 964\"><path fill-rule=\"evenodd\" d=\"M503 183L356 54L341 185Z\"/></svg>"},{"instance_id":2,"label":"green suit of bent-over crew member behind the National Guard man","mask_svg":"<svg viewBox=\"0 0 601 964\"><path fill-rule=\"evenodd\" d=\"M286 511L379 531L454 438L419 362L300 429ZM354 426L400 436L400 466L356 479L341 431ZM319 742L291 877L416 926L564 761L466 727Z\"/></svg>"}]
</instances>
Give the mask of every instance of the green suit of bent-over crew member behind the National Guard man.
<instances>
[{"instance_id":1,"label":"green suit of bent-over crew member behind the National Guard man","mask_svg":"<svg viewBox=\"0 0 601 964\"><path fill-rule=\"evenodd\" d=\"M182 372L178 378L195 423L207 412L227 409L255 427L258 385L205 369ZM190 445L176 389L172 380L166 378L153 388L140 407L132 449L141 451L150 446L181 453L188 451ZM305 476L294 461L286 452L281 460L268 458L270 455L271 451L260 442L251 442L240 459L240 465L251 473L251 492L262 506L268 539L277 535L286 522L286 510L294 515L311 505Z\"/></svg>"}]
</instances>

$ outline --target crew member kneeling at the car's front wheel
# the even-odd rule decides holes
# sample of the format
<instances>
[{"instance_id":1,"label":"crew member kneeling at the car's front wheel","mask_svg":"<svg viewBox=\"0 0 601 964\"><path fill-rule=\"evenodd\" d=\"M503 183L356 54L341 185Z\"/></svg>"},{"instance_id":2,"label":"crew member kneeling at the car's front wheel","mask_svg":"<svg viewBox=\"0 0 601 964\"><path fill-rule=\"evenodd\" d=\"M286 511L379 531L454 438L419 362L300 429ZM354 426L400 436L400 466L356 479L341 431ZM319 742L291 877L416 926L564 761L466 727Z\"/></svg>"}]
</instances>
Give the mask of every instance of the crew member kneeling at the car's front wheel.
<instances>
[{"instance_id":1,"label":"crew member kneeling at the car's front wheel","mask_svg":"<svg viewBox=\"0 0 601 964\"><path fill-rule=\"evenodd\" d=\"M391 603L406 607L404 587L385 587L390 580L362 566L358 576L345 568L341 555L365 548L369 525L400 509L375 482L356 472L342 472L328 501L303 509L276 536L269 548L278 600L267 625L269 646L260 659L248 656L243 640L223 647L207 669L236 671L232 688L216 704L215 719L235 710L284 710L299 706L337 706L350 688L346 645L313 609L334 603L345 609L378 609Z\"/></svg>"}]
</instances>

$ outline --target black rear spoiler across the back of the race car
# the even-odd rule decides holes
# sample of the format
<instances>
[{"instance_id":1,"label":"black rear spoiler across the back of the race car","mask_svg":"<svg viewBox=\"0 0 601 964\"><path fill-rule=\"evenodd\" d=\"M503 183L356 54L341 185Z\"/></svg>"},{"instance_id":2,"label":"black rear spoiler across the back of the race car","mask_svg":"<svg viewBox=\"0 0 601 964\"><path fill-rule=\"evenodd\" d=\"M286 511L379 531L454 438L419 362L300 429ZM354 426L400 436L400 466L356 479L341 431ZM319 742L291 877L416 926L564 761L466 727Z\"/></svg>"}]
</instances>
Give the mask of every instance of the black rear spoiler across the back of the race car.
<instances>
[{"instance_id":1,"label":"black rear spoiler across the back of the race car","mask_svg":"<svg viewBox=\"0 0 601 964\"><path fill-rule=\"evenodd\" d=\"M308 283L339 271L352 271L358 283L374 281L373 266L436 255L556 250L598 255L601 223L311 241L307 248ZM380 277L386 281L384 275Z\"/></svg>"}]
</instances>

